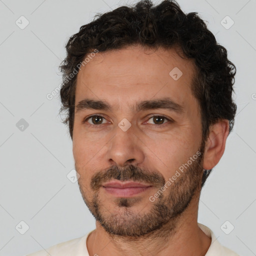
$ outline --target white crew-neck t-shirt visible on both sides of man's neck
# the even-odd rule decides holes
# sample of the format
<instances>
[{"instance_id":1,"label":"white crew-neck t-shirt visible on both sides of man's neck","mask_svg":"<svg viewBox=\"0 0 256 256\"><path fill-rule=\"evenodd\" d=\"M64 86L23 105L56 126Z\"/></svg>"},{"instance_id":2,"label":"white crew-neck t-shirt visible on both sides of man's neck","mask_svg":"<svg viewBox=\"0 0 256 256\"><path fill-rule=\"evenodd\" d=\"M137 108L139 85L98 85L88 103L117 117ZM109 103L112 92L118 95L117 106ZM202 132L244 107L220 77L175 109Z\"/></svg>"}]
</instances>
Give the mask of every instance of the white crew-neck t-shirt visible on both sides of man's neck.
<instances>
[{"instance_id":1,"label":"white crew-neck t-shirt visible on both sides of man's neck","mask_svg":"<svg viewBox=\"0 0 256 256\"><path fill-rule=\"evenodd\" d=\"M222 246L207 226L201 223L198 223L198 226L209 238L211 238L211 243L205 256L239 256L234 251ZM28 254L27 256L89 256L86 240L91 232L92 231L86 233L82 237L53 245L46 250Z\"/></svg>"}]
</instances>

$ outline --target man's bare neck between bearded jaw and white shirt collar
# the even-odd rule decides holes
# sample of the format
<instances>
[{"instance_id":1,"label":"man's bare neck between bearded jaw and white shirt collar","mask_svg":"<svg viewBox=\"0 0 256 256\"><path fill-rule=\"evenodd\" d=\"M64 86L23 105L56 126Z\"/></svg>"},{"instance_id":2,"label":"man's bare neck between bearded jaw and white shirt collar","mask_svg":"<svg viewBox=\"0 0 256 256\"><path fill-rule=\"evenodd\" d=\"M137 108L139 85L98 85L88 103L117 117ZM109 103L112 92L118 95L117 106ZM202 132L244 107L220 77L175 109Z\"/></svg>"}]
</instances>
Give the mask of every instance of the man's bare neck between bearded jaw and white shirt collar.
<instances>
[{"instance_id":1,"label":"man's bare neck between bearded jaw and white shirt collar","mask_svg":"<svg viewBox=\"0 0 256 256\"><path fill-rule=\"evenodd\" d=\"M89 255L104 256L177 256L205 255L211 239L198 227L199 195L184 212L160 229L142 237L121 237L107 233L96 221L96 229L87 239Z\"/></svg>"}]
</instances>

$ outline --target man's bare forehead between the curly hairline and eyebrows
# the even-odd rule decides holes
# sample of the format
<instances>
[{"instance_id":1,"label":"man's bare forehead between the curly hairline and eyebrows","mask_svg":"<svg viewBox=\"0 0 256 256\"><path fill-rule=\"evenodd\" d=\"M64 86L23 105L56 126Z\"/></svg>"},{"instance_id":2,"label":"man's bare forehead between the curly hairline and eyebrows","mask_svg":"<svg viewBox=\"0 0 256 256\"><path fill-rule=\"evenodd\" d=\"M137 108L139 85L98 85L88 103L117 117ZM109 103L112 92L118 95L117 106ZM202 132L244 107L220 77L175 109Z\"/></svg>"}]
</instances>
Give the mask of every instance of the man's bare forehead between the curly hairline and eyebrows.
<instances>
[{"instance_id":1,"label":"man's bare forehead between the curly hairline and eyebrows","mask_svg":"<svg viewBox=\"0 0 256 256\"><path fill-rule=\"evenodd\" d=\"M190 89L194 66L176 50L132 45L96 53L77 74L75 104L91 98L121 107L170 96L185 107L195 100Z\"/></svg>"}]
</instances>

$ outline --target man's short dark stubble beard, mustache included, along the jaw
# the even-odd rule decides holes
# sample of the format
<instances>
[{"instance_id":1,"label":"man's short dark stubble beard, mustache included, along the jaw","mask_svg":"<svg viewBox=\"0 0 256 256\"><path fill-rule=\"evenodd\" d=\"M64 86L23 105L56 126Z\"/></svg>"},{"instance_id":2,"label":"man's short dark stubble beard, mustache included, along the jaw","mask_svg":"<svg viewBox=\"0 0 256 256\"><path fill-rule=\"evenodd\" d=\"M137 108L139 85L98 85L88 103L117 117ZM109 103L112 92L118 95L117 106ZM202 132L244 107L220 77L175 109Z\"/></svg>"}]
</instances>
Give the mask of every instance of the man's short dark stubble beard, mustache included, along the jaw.
<instances>
[{"instance_id":1,"label":"man's short dark stubble beard, mustache included, along the jaw","mask_svg":"<svg viewBox=\"0 0 256 256\"><path fill-rule=\"evenodd\" d=\"M201 154L181 172L176 180L167 186L166 190L160 193L154 202L150 202L148 197L142 198L144 205L152 205L148 212L136 212L134 207L141 202L136 197L116 198L114 204L115 213L109 212L104 202L100 200L99 188L103 181L110 178L120 181L144 181L157 184L155 192L159 191L165 184L163 176L159 172L147 172L133 165L118 168L112 166L105 172L97 172L93 175L90 185L92 198L89 200L87 189L82 189L82 180L78 179L79 189L82 198L88 209L110 235L122 236L126 238L146 237L157 234L157 236L165 236L166 233L175 229L178 218L188 207L196 191L200 191L201 179L203 173L204 143L198 149ZM91 194L90 192L90 194ZM154 192L154 193L155 193ZM152 195L154 194L152 193Z\"/></svg>"}]
</instances>

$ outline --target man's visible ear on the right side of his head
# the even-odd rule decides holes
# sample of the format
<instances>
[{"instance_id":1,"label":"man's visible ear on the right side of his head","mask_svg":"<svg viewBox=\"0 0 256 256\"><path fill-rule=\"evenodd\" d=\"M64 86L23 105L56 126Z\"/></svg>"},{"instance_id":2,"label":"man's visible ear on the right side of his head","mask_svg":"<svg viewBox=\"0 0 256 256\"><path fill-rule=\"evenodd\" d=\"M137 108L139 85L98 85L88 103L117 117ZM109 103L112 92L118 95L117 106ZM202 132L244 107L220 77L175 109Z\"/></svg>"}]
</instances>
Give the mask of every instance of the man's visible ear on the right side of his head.
<instances>
[{"instance_id":1,"label":"man's visible ear on the right side of his head","mask_svg":"<svg viewBox=\"0 0 256 256\"><path fill-rule=\"evenodd\" d=\"M219 162L225 150L228 132L229 121L227 119L218 120L210 126L204 149L204 169L212 169Z\"/></svg>"}]
</instances>

